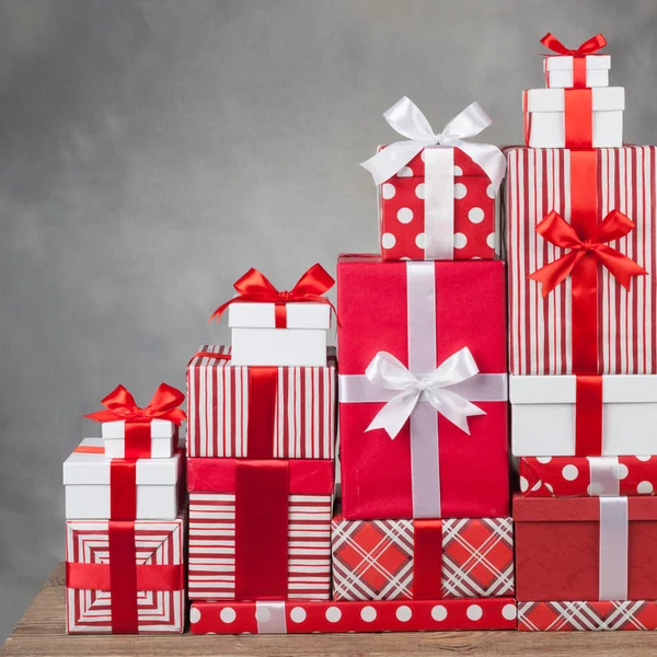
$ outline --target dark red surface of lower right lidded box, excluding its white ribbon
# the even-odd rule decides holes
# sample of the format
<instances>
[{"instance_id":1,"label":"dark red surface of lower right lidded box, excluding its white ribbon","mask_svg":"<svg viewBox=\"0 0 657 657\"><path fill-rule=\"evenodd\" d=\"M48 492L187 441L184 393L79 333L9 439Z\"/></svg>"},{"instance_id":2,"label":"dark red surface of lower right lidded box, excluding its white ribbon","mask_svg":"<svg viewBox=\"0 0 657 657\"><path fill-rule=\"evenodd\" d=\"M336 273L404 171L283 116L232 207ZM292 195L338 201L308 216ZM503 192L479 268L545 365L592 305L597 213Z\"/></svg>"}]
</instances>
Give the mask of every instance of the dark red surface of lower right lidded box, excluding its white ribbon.
<instances>
[{"instance_id":1,"label":"dark red surface of lower right lidded box, excluding its white ribbon","mask_svg":"<svg viewBox=\"0 0 657 657\"><path fill-rule=\"evenodd\" d=\"M657 599L657 497L629 497L627 599ZM597 600L599 500L514 499L518 600Z\"/></svg>"}]
</instances>

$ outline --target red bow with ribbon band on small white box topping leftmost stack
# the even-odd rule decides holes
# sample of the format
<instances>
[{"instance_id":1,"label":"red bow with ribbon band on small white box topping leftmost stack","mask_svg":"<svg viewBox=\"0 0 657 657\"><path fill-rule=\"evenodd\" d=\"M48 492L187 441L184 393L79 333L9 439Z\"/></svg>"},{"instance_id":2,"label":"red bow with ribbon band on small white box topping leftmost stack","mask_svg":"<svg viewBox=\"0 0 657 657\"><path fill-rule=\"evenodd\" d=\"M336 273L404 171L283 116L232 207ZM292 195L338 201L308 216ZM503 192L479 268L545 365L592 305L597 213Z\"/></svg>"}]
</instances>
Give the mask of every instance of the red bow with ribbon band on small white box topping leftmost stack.
<instances>
[{"instance_id":1,"label":"red bow with ribbon band on small white box topping leftmost stack","mask_svg":"<svg viewBox=\"0 0 657 657\"><path fill-rule=\"evenodd\" d=\"M148 459L151 456L151 420L168 419L180 426L187 417L178 408L184 401L185 395L180 390L160 383L148 406L141 408L126 388L117 385L101 401L106 411L96 411L84 417L95 422L125 420L125 458Z\"/></svg>"}]
</instances>

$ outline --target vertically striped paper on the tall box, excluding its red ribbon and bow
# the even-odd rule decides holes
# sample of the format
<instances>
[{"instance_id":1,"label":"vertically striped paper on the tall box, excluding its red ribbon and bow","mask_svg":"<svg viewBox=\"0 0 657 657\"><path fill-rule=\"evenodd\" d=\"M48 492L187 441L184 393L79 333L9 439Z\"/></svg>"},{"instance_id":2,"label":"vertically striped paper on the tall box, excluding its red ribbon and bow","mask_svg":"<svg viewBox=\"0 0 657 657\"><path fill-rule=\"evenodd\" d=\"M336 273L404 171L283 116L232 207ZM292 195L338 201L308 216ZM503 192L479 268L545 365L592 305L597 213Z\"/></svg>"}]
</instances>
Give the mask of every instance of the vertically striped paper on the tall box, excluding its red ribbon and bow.
<instances>
[{"instance_id":1,"label":"vertically striped paper on the tall box, excluding its red ribbon and bow","mask_svg":"<svg viewBox=\"0 0 657 657\"><path fill-rule=\"evenodd\" d=\"M618 209L636 228L610 242L648 272L627 292L600 267L598 362L602 374L657 373L656 148L597 149L598 220ZM550 210L570 220L570 151L507 150L507 253L510 303L510 371L515 374L568 374L572 368L570 279L541 299L528 278L561 255L534 230Z\"/></svg>"}]
</instances>

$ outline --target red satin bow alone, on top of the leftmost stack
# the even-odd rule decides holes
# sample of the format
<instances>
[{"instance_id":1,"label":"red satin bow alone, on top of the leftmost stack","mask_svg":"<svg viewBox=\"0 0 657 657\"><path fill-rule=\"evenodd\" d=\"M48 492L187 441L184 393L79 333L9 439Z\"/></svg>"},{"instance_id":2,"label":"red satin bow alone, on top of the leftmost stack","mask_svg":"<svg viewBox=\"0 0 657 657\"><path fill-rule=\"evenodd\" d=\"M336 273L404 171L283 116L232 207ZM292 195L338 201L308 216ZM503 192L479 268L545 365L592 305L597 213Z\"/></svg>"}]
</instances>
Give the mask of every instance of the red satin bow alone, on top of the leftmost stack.
<instances>
[{"instance_id":1,"label":"red satin bow alone, on top of the leftmost stack","mask_svg":"<svg viewBox=\"0 0 657 657\"><path fill-rule=\"evenodd\" d=\"M178 406L185 401L185 395L168 383L160 383L148 406L140 408L132 394L123 385L117 385L101 401L106 411L96 411L84 417L95 422L150 422L151 419L168 419L180 425L186 419L186 414Z\"/></svg>"}]
</instances>

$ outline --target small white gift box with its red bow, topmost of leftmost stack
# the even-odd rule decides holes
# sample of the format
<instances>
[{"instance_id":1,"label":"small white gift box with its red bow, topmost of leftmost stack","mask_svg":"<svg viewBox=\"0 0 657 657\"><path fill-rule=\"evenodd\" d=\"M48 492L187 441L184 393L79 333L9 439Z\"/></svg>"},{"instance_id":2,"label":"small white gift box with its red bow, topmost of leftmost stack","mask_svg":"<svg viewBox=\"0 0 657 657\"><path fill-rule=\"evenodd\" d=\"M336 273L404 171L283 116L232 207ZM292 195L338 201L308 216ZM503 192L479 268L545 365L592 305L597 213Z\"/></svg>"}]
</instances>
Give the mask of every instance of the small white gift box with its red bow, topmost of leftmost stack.
<instances>
[{"instance_id":1,"label":"small white gift box with its red bow, topmost of leftmost stack","mask_svg":"<svg viewBox=\"0 0 657 657\"><path fill-rule=\"evenodd\" d=\"M187 417L178 407L184 401L180 390L160 383L148 406L140 408L118 385L101 401L106 410L84 417L102 423L105 456L111 459L169 459L177 447L178 426Z\"/></svg>"}]
</instances>

